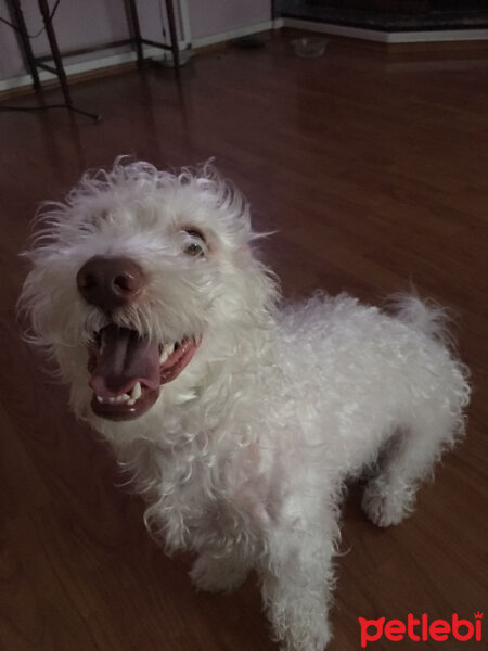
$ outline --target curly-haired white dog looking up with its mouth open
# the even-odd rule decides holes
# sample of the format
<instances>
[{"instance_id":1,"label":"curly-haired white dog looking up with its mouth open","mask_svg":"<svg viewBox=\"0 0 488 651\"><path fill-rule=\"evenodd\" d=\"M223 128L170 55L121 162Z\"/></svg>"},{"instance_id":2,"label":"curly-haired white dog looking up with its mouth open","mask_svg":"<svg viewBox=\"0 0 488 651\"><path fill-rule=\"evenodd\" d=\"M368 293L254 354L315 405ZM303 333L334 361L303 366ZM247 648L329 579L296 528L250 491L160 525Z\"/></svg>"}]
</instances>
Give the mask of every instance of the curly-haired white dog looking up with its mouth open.
<instances>
[{"instance_id":1,"label":"curly-haired white dog looking up with its mouth open","mask_svg":"<svg viewBox=\"0 0 488 651\"><path fill-rule=\"evenodd\" d=\"M282 649L321 651L346 478L380 526L463 433L445 314L341 295L279 305L248 205L208 165L117 159L41 219L21 306L72 404L113 445L204 590L254 567Z\"/></svg>"}]
</instances>

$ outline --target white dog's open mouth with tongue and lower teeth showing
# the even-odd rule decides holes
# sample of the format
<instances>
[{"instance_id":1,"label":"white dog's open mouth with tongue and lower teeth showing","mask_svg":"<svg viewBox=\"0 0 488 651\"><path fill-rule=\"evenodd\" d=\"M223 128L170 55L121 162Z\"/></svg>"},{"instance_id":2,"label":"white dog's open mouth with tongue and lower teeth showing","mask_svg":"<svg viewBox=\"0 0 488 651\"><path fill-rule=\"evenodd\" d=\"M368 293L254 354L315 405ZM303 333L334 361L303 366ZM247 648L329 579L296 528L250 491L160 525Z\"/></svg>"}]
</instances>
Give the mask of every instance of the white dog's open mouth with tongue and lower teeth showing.
<instances>
[{"instance_id":1,"label":"white dog's open mouth with tongue and lower teeth showing","mask_svg":"<svg viewBox=\"0 0 488 651\"><path fill-rule=\"evenodd\" d=\"M178 378L198 345L194 337L160 344L136 330L106 326L90 346L93 412L116 421L138 418L157 400L160 386Z\"/></svg>"}]
</instances>

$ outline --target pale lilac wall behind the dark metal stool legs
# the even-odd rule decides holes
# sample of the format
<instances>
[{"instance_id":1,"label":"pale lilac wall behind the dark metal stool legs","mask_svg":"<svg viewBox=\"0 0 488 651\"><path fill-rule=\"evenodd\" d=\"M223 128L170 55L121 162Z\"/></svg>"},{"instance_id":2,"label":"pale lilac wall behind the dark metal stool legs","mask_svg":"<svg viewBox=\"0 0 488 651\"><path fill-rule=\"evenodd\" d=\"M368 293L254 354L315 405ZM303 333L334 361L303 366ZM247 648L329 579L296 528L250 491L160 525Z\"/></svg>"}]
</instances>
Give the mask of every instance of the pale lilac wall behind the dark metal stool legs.
<instances>
[{"instance_id":1,"label":"pale lilac wall behind the dark metal stool legs","mask_svg":"<svg viewBox=\"0 0 488 651\"><path fill-rule=\"evenodd\" d=\"M175 5L177 0L174 0ZM270 21L270 0L185 0L192 40L206 40L218 35L253 28ZM49 0L50 7L54 0ZM138 0L143 36L162 40L160 5L164 0ZM22 0L22 9L29 33L42 27L37 0ZM0 16L10 14L5 0L0 0ZM129 37L124 0L61 0L54 17L57 41L62 52L103 46ZM34 53L42 56L49 52L46 35L31 40ZM126 49L127 50L127 49ZM98 59L100 52L85 55ZM0 80L25 74L25 66L13 30L0 23Z\"/></svg>"}]
</instances>

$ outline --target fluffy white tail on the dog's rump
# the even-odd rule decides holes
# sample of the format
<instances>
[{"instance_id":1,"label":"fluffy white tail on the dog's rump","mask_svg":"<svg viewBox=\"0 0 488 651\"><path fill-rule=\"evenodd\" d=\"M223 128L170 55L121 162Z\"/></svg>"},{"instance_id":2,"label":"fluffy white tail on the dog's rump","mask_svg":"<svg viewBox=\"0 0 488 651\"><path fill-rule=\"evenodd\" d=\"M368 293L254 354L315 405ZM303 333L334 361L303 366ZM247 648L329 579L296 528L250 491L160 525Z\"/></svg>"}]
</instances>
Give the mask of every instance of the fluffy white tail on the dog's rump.
<instances>
[{"instance_id":1,"label":"fluffy white tail on the dog's rump","mask_svg":"<svg viewBox=\"0 0 488 651\"><path fill-rule=\"evenodd\" d=\"M433 298L422 299L415 292L394 294L388 299L388 306L400 321L449 348L455 348L455 340L450 332L453 316Z\"/></svg>"}]
</instances>

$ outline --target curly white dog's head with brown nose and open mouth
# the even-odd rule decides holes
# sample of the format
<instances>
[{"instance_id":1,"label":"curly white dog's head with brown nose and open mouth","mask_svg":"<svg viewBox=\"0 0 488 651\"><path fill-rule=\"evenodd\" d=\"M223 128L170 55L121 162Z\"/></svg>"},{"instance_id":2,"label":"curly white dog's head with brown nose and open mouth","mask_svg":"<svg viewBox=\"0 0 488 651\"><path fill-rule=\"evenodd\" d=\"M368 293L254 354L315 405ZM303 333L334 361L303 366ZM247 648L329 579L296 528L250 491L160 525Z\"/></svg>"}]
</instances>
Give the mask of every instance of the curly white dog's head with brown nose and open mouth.
<instances>
[{"instance_id":1,"label":"curly white dog's head with brown nose and open mouth","mask_svg":"<svg viewBox=\"0 0 488 651\"><path fill-rule=\"evenodd\" d=\"M116 162L41 219L21 305L81 416L137 419L165 384L237 354L272 304L248 208L209 167Z\"/></svg>"}]
</instances>

